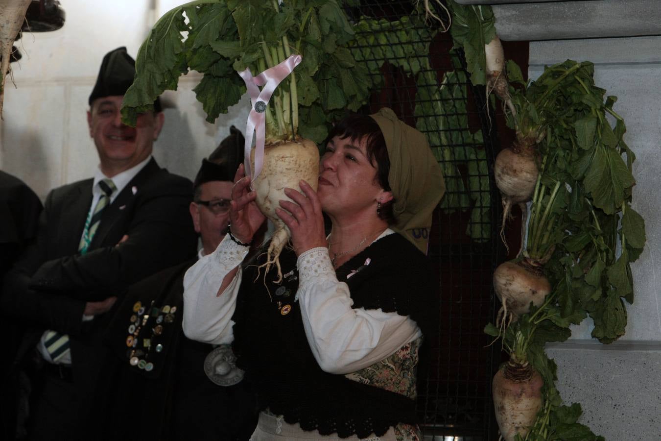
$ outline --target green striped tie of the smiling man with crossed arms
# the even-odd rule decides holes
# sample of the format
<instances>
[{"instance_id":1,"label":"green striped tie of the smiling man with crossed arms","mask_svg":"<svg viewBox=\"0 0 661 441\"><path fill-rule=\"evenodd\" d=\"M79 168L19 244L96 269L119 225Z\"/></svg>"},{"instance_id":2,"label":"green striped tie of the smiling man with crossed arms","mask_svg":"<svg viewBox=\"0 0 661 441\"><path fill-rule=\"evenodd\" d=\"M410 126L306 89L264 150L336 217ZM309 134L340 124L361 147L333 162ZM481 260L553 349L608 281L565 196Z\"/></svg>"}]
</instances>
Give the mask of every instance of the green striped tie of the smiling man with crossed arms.
<instances>
[{"instance_id":1,"label":"green striped tie of the smiling man with crossed arms","mask_svg":"<svg viewBox=\"0 0 661 441\"><path fill-rule=\"evenodd\" d=\"M110 204L110 196L114 190L117 190L114 182L111 179L103 179L98 182L98 186L102 191L100 198L98 198L97 206L91 210L87 215L85 221L85 230L83 237L78 245L78 251L81 254L87 253L89 244L97 232L98 224L101 223L101 215L103 209ZM54 362L58 362L63 356L69 352L69 336L58 333L57 331L46 331L46 340L44 346L48 350L48 354Z\"/></svg>"}]
</instances>

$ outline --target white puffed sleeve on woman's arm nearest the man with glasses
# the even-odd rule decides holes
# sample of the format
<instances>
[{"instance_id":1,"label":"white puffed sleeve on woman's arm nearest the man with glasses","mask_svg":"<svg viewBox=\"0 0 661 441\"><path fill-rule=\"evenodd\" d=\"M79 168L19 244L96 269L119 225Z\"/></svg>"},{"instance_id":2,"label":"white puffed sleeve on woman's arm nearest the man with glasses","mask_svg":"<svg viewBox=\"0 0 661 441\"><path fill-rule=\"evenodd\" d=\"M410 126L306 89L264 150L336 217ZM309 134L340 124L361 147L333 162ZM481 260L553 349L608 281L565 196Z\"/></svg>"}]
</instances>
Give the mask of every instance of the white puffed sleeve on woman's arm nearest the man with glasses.
<instances>
[{"instance_id":1,"label":"white puffed sleeve on woman's arm nearest the man with glasses","mask_svg":"<svg viewBox=\"0 0 661 441\"><path fill-rule=\"evenodd\" d=\"M202 257L184 275L184 335L211 344L229 344L234 340L231 320L241 285L241 262L249 247L243 247L229 235L214 253ZM220 296L218 290L228 272L239 266L236 276Z\"/></svg>"}]
</instances>

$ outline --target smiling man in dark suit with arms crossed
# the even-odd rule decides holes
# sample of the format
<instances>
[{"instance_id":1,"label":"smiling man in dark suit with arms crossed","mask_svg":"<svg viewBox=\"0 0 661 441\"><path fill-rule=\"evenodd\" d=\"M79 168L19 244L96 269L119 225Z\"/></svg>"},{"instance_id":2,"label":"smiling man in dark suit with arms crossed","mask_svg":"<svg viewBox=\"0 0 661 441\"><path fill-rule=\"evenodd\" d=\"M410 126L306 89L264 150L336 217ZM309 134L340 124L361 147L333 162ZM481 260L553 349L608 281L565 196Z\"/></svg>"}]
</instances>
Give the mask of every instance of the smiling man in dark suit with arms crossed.
<instances>
[{"instance_id":1,"label":"smiling man in dark suit with arms crossed","mask_svg":"<svg viewBox=\"0 0 661 441\"><path fill-rule=\"evenodd\" d=\"M135 128L122 124L134 74L126 48L104 57L87 112L98 171L48 194L36 243L5 277L3 311L34 327L15 358L38 365L30 440L95 438L109 383L106 312L129 284L195 253L191 182L151 157L159 102Z\"/></svg>"}]
</instances>

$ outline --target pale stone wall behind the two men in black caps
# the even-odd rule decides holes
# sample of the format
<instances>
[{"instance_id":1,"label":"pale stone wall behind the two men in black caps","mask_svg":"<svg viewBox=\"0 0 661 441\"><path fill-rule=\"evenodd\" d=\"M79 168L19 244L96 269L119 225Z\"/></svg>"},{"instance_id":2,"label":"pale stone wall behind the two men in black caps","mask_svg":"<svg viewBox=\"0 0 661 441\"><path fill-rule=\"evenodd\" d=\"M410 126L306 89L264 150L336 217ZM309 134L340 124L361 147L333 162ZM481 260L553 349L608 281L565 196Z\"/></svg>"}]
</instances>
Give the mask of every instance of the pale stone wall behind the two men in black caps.
<instances>
[{"instance_id":1,"label":"pale stone wall behind the two men in black caps","mask_svg":"<svg viewBox=\"0 0 661 441\"><path fill-rule=\"evenodd\" d=\"M24 34L22 60L12 63L17 88L7 83L0 123L0 169L24 180L44 198L51 188L90 177L98 165L87 129L87 98L106 52L126 46L134 58L155 19L178 0L63 1L66 21L54 32ZM242 132L249 111L244 99L209 124L192 88L197 73L167 92L165 127L154 156L171 172L193 179L200 161L229 134Z\"/></svg>"}]
</instances>

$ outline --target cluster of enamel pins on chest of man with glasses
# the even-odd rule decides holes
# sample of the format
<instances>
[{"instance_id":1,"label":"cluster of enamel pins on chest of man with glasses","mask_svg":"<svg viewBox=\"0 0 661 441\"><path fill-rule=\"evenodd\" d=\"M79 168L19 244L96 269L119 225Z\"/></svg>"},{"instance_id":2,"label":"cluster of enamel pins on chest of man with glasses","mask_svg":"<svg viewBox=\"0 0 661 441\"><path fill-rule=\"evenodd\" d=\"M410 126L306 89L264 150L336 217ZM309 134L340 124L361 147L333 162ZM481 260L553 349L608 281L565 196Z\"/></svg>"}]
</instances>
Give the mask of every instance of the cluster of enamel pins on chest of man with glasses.
<instances>
[{"instance_id":1,"label":"cluster of enamel pins on chest of man with glasses","mask_svg":"<svg viewBox=\"0 0 661 441\"><path fill-rule=\"evenodd\" d=\"M129 347L126 356L129 359L129 364L147 372L154 368L153 362L149 361L151 350L153 349L155 352L163 350L163 344L157 342L157 339L163 334L163 326L175 321L176 313L176 306L165 305L159 309L154 306L154 303L155 301L152 300L149 309L147 309L140 301L136 301L133 305L134 314L130 319L131 324L128 327L128 337L126 337L126 346ZM150 317L151 325L153 325L151 335L148 338L140 339L140 331L147 328Z\"/></svg>"}]
</instances>

